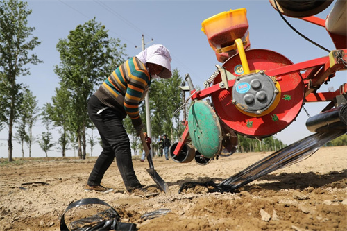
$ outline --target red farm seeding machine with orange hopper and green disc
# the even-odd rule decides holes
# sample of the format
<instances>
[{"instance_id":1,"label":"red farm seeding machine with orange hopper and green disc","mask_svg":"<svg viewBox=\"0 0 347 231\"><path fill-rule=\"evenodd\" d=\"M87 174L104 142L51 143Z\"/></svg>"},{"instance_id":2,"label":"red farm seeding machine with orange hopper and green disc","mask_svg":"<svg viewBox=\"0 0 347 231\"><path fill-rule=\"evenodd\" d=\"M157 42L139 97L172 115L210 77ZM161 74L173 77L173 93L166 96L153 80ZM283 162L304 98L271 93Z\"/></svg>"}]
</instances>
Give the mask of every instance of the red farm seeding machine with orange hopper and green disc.
<instances>
[{"instance_id":1,"label":"red farm seeding machine with orange hopper and green disc","mask_svg":"<svg viewBox=\"0 0 347 231\"><path fill-rule=\"evenodd\" d=\"M175 162L195 160L205 165L217 155L231 155L237 150L237 135L259 140L275 135L296 119L305 103L328 102L319 114L307 119L307 129L315 134L266 157L259 162L261 167L258 163L248 168L248 181L243 178L244 183L251 176L275 170L271 169L274 163L284 166L301 160L346 133L347 83L335 92L317 89L334 78L337 71L347 69L347 1L336 1L326 19L314 15L332 1L269 0L269 3L284 20L286 15L324 27L335 50L328 51L325 57L293 63L275 51L250 49L244 8L205 19L202 31L222 64L216 65L214 74L203 83L204 89L195 89L189 74L185 75L189 98L183 106L189 100L192 105L183 119L185 130L170 149ZM290 160L288 155L292 155ZM223 184L236 185L235 176Z\"/></svg>"}]
</instances>

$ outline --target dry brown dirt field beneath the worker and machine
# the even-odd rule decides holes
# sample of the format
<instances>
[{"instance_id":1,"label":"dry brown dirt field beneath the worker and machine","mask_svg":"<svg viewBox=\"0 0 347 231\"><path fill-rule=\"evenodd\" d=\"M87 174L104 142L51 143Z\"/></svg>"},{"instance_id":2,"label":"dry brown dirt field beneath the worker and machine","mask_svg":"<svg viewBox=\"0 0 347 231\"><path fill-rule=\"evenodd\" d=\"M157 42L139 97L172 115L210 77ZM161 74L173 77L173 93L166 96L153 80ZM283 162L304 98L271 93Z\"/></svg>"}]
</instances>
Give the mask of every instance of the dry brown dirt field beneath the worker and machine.
<instances>
[{"instance_id":1,"label":"dry brown dirt field beneath the worker and machine","mask_svg":"<svg viewBox=\"0 0 347 231\"><path fill-rule=\"evenodd\" d=\"M81 198L99 198L121 214L121 221L139 230L347 230L347 146L321 148L307 160L263 176L235 193L207 193L189 189L178 194L183 182L221 182L271 153L235 153L206 166L194 161L178 164L164 157L153 160L156 171L170 187L159 191L147 173L147 162L134 160L149 198L124 193L116 164L103 184L110 194L85 192L83 187L95 158L31 160L0 166L0 230L60 230L60 216ZM144 221L157 209L166 215Z\"/></svg>"}]
</instances>

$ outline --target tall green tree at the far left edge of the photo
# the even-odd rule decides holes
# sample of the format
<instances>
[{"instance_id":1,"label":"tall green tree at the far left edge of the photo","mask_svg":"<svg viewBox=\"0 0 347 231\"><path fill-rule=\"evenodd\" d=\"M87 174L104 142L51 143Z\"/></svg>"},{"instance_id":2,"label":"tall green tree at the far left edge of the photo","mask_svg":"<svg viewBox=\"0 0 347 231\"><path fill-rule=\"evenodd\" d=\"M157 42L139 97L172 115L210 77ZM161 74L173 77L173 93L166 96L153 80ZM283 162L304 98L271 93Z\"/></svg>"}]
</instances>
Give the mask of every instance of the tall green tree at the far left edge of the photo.
<instances>
[{"instance_id":1,"label":"tall green tree at the far left edge of the photo","mask_svg":"<svg viewBox=\"0 0 347 231\"><path fill-rule=\"evenodd\" d=\"M17 77L30 74L28 64L42 62L37 55L30 54L40 44L32 36L35 28L28 27L28 3L17 0L0 1L0 89L1 109L8 126L8 160L12 161L12 128L17 119L17 106L22 84Z\"/></svg>"}]
</instances>

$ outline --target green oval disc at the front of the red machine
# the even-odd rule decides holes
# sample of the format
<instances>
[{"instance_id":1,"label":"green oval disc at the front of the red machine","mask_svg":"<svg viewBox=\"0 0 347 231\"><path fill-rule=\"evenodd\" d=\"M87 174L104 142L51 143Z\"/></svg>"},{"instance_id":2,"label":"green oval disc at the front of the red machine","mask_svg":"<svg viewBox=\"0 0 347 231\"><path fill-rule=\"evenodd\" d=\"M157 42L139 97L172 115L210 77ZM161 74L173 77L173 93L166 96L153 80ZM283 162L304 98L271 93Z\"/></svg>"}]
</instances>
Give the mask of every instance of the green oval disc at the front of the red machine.
<instances>
[{"instance_id":1,"label":"green oval disc at the front of the red machine","mask_svg":"<svg viewBox=\"0 0 347 231\"><path fill-rule=\"evenodd\" d=\"M189 135L192 144L204 157L212 158L221 150L221 125L206 101L196 101L189 109Z\"/></svg>"}]
</instances>

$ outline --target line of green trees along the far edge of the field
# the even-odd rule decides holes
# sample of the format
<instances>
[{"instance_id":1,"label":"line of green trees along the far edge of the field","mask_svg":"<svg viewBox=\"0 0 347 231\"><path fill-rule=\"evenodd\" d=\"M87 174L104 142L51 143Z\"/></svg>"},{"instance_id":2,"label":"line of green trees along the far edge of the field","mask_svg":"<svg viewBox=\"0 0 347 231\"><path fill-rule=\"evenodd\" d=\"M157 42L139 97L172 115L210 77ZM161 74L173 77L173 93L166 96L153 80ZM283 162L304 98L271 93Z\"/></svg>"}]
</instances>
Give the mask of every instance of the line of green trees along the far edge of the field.
<instances>
[{"instance_id":1,"label":"line of green trees along the far edge of the field","mask_svg":"<svg viewBox=\"0 0 347 231\"><path fill-rule=\"evenodd\" d=\"M8 128L8 160L12 161L13 139L20 144L22 157L24 144L28 146L31 157L31 146L37 142L46 156L53 146L58 146L62 157L65 157L69 146L73 146L78 150L78 157L84 159L87 144L90 144L92 153L92 148L99 143L93 136L87 137L87 130L95 130L87 115L87 101L103 80L130 58L126 54L126 44L109 37L108 30L95 18L76 26L56 44L60 63L53 71L59 78L59 86L51 102L38 108L36 96L27 85L17 80L30 76L28 65L43 62L32 53L40 42L33 35L35 28L28 26L27 19L31 13L26 2L0 1L0 130L5 126ZM166 134L174 141L182 135L185 128L180 123L182 114L174 114L174 111L183 103L184 93L179 88L183 82L178 69L174 69L169 80L156 79L151 83L152 139ZM144 103L140 105L140 115L145 118ZM33 126L37 121L44 125L45 132L35 137ZM136 153L140 144L130 119L125 119L124 126ZM52 127L58 130L57 142L53 142ZM346 145L346 140L342 143ZM284 146L273 137L258 141L239 136L240 152L276 151Z\"/></svg>"}]
</instances>

